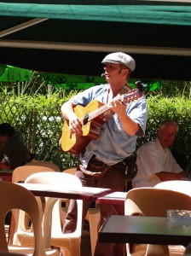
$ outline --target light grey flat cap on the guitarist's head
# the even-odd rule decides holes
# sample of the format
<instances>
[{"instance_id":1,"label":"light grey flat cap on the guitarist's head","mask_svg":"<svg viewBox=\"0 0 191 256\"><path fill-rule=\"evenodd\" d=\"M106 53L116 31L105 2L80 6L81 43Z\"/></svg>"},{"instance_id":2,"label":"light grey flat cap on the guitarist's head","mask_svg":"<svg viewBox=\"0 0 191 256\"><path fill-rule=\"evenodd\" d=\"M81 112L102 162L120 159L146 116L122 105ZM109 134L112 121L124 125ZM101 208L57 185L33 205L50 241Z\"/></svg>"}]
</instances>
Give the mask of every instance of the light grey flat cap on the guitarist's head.
<instances>
[{"instance_id":1,"label":"light grey flat cap on the guitarist's head","mask_svg":"<svg viewBox=\"0 0 191 256\"><path fill-rule=\"evenodd\" d=\"M101 63L117 63L123 64L125 67L130 68L131 71L134 71L136 68L136 61L130 56L126 55L123 52L113 52L107 55Z\"/></svg>"}]
</instances>

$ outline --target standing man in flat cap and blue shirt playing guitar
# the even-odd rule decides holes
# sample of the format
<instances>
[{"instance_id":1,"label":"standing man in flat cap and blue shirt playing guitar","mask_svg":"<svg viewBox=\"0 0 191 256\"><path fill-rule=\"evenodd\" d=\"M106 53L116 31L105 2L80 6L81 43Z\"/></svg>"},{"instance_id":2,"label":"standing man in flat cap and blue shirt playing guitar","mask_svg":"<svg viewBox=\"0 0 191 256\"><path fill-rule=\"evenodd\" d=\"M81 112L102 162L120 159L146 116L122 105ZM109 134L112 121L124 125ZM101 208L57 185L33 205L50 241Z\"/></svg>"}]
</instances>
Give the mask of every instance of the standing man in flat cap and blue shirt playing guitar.
<instances>
[{"instance_id":1,"label":"standing man in flat cap and blue shirt playing guitar","mask_svg":"<svg viewBox=\"0 0 191 256\"><path fill-rule=\"evenodd\" d=\"M108 188L113 191L124 191L125 170L133 164L132 154L136 149L137 137L142 137L146 128L148 108L146 97L137 101L122 102L120 95L132 88L128 83L130 73L136 62L130 55L115 52L107 55L102 63L105 65L101 76L107 84L101 84L84 90L72 97L61 107L63 117L68 120L69 131L82 133L82 125L73 108L77 105L87 106L92 100L107 104L110 118L101 126L99 139L91 140L79 155L80 165L76 176L84 186ZM108 114L109 115L109 114ZM84 201L83 218L90 207L90 201ZM111 215L116 214L113 207L101 205L101 224ZM75 230L77 220L76 201L71 200L67 218L63 227L64 233ZM113 255L113 245L97 243L95 255Z\"/></svg>"}]
</instances>

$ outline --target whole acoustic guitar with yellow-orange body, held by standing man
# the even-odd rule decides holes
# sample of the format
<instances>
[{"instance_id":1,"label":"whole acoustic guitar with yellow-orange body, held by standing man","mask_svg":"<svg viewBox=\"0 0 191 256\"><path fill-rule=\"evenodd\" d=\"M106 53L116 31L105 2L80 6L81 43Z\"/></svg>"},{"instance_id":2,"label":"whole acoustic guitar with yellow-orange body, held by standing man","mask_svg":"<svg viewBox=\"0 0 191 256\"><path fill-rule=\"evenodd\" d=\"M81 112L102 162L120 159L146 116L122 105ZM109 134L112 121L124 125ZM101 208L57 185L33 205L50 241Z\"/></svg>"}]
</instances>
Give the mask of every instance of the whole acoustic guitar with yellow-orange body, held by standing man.
<instances>
[{"instance_id":1,"label":"whole acoustic guitar with yellow-orange body, held by standing man","mask_svg":"<svg viewBox=\"0 0 191 256\"><path fill-rule=\"evenodd\" d=\"M141 98L144 94L145 84L138 89L129 90L128 93L121 95L121 102L133 102ZM69 131L69 122L66 119L61 134L61 148L65 152L78 155L93 139L100 137L101 125L113 115L108 106L102 102L93 100L86 107L80 105L73 108L74 113L82 125L80 134L72 134Z\"/></svg>"}]
</instances>

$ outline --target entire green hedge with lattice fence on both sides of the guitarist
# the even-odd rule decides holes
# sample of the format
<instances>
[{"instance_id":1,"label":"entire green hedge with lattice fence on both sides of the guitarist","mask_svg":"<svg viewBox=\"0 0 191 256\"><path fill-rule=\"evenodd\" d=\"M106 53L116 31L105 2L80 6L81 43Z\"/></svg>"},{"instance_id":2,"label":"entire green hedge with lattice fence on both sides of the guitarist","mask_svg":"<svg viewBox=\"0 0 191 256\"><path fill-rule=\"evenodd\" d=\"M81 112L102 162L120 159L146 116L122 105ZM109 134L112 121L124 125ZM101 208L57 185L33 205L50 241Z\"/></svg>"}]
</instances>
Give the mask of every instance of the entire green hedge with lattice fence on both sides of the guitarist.
<instances>
[{"instance_id":1,"label":"entire green hedge with lattice fence on both sides of the guitarist","mask_svg":"<svg viewBox=\"0 0 191 256\"><path fill-rule=\"evenodd\" d=\"M29 142L28 127L31 126L31 133L36 132L36 130L32 131L34 127L34 125L31 124L32 109L34 109L35 112L38 111L38 118L35 120L39 128L36 143L39 144L40 148L35 149L35 153L38 154L38 160L53 160L59 162L61 168L65 169L75 165L78 158L62 152L61 148L58 149L58 140L61 137L61 129L64 121L61 117L60 109L61 104L67 102L67 100L77 94L78 91L61 90L55 92L55 90L51 91L51 88L45 91L46 95L21 94L17 96L13 90L2 90L0 92L0 121L10 122L15 125L17 129L24 133L28 145L31 145L32 137ZM145 137L138 138L136 149L139 148L142 143L148 142L156 137L157 127L162 120L174 119L179 125L179 131L173 148L171 149L183 155L183 157L186 157L187 161L191 160L190 91L190 83L173 84L166 82L162 88L147 92L147 130ZM55 106L57 106L56 110L54 108ZM55 119L53 119L53 116L55 116ZM44 130L45 128L46 130Z\"/></svg>"}]
</instances>

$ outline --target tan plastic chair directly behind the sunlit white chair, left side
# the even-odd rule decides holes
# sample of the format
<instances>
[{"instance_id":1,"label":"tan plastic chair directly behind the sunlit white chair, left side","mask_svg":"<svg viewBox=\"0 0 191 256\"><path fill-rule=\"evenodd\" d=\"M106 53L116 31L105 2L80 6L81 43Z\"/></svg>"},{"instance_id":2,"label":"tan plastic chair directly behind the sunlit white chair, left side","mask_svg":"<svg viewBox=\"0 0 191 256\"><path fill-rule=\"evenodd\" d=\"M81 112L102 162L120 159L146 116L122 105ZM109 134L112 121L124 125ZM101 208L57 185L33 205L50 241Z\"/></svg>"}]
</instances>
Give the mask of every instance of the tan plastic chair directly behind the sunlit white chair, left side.
<instances>
[{"instance_id":1,"label":"tan plastic chair directly behind the sunlit white chair, left side","mask_svg":"<svg viewBox=\"0 0 191 256\"><path fill-rule=\"evenodd\" d=\"M14 169L12 183L25 182L26 178L36 172L57 172L59 167L51 162L34 161L27 163L25 166L19 166ZM13 244L14 232L18 225L19 211L13 210L9 225L9 244Z\"/></svg>"}]
</instances>

